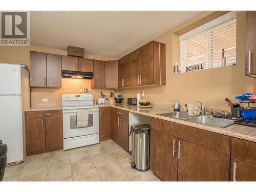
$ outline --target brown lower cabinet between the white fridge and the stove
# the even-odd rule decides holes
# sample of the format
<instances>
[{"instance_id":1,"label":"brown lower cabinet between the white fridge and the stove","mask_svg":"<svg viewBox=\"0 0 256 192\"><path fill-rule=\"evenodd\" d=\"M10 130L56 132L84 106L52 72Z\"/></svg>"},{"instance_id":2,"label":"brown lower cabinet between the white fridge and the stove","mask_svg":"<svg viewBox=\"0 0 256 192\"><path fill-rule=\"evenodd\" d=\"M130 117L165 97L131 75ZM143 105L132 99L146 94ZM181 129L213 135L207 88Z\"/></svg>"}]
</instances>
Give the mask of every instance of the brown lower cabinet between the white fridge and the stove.
<instances>
[{"instance_id":1,"label":"brown lower cabinet between the white fridge and the stove","mask_svg":"<svg viewBox=\"0 0 256 192\"><path fill-rule=\"evenodd\" d=\"M62 111L26 112L28 156L63 149Z\"/></svg>"}]
</instances>

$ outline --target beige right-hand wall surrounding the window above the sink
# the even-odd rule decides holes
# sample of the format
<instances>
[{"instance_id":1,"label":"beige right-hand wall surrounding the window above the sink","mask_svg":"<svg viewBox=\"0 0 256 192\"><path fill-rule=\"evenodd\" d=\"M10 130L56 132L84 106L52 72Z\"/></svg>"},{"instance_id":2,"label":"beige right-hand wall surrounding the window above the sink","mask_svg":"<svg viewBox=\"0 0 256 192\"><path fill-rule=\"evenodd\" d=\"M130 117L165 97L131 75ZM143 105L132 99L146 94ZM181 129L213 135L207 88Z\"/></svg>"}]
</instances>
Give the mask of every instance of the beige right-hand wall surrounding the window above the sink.
<instances>
[{"instance_id":1,"label":"beige right-hand wall surrounding the window above the sink","mask_svg":"<svg viewBox=\"0 0 256 192\"><path fill-rule=\"evenodd\" d=\"M156 103L174 103L175 98L180 103L199 104L203 102L206 108L230 110L223 101L226 97L235 101L234 96L253 91L254 78L245 76L245 12L237 14L237 65L216 69L174 74L174 63L179 62L179 41L174 33L210 12L204 12L188 22L170 30L156 38L166 44L166 86L150 88L124 89L123 96L135 97L136 93L145 91L145 99Z\"/></svg>"}]
</instances>

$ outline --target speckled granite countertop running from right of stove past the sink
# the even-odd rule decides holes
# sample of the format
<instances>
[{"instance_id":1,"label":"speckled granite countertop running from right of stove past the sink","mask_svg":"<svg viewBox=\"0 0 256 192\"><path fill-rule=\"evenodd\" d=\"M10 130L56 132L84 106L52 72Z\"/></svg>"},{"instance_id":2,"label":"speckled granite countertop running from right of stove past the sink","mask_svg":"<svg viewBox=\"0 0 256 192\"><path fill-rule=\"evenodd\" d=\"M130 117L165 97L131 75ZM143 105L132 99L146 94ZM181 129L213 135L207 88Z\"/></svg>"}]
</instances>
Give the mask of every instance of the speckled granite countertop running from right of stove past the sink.
<instances>
[{"instance_id":1,"label":"speckled granite countertop running from right of stove past the sink","mask_svg":"<svg viewBox=\"0 0 256 192\"><path fill-rule=\"evenodd\" d=\"M137 107L136 105L127 105L127 104L122 104L122 103L99 105L99 107L104 107L104 106L111 106L113 108L122 109L125 111L129 111L129 112L133 112L133 113L137 113L137 114L141 114L141 115L146 115L146 116L155 117L158 119L163 119L163 120L167 120L167 121L171 121L171 122L175 122L175 123L179 123L179 124L196 127L201 130L206 130L206 131L215 132L215 133L219 133L219 134L223 134L223 135L227 135L227 136L231 136L231 137L236 137L239 139L256 142L256 128L255 127L234 124L234 125L228 126L226 128L219 128L219 127L212 127L212 126L199 124L199 123L188 122L188 121L184 121L181 119L164 117L164 116L160 116L157 114L173 112L173 110L163 109L160 107L140 108L140 107Z\"/></svg>"}]
</instances>

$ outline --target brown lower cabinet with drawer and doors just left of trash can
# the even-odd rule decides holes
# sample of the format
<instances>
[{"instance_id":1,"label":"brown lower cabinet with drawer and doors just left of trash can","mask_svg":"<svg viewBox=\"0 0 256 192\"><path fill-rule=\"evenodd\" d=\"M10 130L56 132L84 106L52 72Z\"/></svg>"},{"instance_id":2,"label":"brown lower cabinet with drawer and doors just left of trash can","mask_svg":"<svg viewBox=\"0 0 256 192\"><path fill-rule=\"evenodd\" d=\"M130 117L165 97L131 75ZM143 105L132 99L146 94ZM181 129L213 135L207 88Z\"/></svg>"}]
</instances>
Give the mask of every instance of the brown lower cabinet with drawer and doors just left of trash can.
<instances>
[{"instance_id":1,"label":"brown lower cabinet with drawer and doors just left of trash can","mask_svg":"<svg viewBox=\"0 0 256 192\"><path fill-rule=\"evenodd\" d=\"M111 138L129 152L129 112L113 108L111 117Z\"/></svg>"}]
</instances>

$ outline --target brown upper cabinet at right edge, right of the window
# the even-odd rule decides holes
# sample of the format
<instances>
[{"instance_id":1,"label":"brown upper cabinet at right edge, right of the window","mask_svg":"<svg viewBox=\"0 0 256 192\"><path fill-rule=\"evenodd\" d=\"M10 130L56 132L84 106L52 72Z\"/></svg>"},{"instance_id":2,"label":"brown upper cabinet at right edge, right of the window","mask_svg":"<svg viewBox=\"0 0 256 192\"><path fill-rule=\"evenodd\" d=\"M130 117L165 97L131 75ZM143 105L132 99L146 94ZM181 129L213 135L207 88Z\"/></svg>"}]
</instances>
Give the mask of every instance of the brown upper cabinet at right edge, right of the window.
<instances>
[{"instance_id":1,"label":"brown upper cabinet at right edge, right of the window","mask_svg":"<svg viewBox=\"0 0 256 192\"><path fill-rule=\"evenodd\" d=\"M246 11L245 75L256 77L256 11Z\"/></svg>"}]
</instances>

